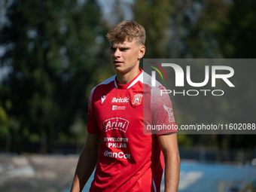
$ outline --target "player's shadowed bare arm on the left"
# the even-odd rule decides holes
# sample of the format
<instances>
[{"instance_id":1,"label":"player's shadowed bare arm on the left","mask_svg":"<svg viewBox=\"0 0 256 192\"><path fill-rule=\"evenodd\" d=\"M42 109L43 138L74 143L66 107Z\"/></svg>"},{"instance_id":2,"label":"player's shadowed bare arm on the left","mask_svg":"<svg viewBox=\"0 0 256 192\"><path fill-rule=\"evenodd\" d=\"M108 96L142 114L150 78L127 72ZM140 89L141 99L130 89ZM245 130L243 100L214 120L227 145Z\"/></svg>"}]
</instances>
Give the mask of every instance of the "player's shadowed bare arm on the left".
<instances>
[{"instance_id":1,"label":"player's shadowed bare arm on the left","mask_svg":"<svg viewBox=\"0 0 256 192\"><path fill-rule=\"evenodd\" d=\"M80 192L87 183L90 175L96 166L99 157L99 147L102 139L99 134L87 133L87 140L78 160L78 166L75 170L75 178L72 184L71 192Z\"/></svg>"}]
</instances>

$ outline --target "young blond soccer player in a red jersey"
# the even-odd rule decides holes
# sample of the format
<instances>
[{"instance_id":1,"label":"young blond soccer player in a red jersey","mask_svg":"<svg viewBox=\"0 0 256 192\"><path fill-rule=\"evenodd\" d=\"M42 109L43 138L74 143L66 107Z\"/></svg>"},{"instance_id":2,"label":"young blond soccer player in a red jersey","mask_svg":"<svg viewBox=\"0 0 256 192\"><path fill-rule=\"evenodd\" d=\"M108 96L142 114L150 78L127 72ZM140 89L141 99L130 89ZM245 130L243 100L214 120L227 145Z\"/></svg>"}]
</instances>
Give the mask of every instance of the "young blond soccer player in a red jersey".
<instances>
[{"instance_id":1,"label":"young blond soccer player in a red jersey","mask_svg":"<svg viewBox=\"0 0 256 192\"><path fill-rule=\"evenodd\" d=\"M169 96L159 99L157 93L163 87L152 87L149 75L139 69L145 54L145 29L136 22L123 21L107 37L117 75L90 93L87 141L71 191L81 191L96 166L90 192L160 192L163 157L165 191L177 191L180 160L176 131L143 133L147 125L175 124Z\"/></svg>"}]
</instances>

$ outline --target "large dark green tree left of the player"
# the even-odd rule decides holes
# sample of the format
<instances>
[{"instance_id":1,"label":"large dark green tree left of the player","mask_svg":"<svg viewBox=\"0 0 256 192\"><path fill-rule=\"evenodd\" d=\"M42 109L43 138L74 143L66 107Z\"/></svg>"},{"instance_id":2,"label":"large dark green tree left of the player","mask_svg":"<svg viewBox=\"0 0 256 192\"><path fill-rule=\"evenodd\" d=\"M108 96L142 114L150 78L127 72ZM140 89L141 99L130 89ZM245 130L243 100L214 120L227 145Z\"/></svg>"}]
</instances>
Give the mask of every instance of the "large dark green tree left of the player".
<instances>
[{"instance_id":1,"label":"large dark green tree left of the player","mask_svg":"<svg viewBox=\"0 0 256 192\"><path fill-rule=\"evenodd\" d=\"M1 63L11 72L0 87L0 101L11 149L23 151L26 141L41 141L47 142L41 152L50 152L54 144L74 139L76 120L85 129L92 74L105 66L99 6L93 0L15 1L7 17L0 42L8 48ZM5 146L4 136L1 141Z\"/></svg>"}]
</instances>

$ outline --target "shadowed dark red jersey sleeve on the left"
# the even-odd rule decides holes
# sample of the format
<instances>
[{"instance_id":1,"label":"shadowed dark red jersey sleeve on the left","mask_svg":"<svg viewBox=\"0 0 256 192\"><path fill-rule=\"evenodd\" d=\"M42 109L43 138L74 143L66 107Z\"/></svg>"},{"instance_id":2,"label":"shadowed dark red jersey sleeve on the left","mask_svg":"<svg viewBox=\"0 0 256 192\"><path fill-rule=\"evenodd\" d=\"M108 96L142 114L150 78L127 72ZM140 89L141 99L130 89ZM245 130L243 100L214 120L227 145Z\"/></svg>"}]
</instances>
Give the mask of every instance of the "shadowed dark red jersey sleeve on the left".
<instances>
[{"instance_id":1,"label":"shadowed dark red jersey sleeve on the left","mask_svg":"<svg viewBox=\"0 0 256 192\"><path fill-rule=\"evenodd\" d=\"M91 134L99 134L99 126L96 120L96 114L93 108L93 93L95 87L90 92L90 97L88 101L88 123L87 123L87 132Z\"/></svg>"}]
</instances>

